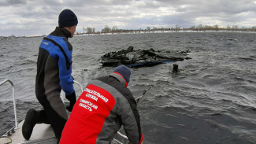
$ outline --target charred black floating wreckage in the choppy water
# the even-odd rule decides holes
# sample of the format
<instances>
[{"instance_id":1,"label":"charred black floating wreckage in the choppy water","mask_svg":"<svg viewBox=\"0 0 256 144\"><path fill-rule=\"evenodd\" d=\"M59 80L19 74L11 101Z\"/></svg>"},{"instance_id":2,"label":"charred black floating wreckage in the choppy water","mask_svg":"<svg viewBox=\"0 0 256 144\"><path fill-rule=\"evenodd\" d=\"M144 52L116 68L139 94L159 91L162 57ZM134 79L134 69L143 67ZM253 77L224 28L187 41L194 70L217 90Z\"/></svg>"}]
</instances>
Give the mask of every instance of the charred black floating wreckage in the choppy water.
<instances>
[{"instance_id":1,"label":"charred black floating wreckage in the choppy water","mask_svg":"<svg viewBox=\"0 0 256 144\"><path fill-rule=\"evenodd\" d=\"M117 65L126 65L131 68L150 67L191 59L190 57L184 57L187 53L190 53L190 51L171 53L170 51L156 51L152 48L150 50L134 50L133 46L129 46L127 50L104 54L101 57L101 63L103 67L116 67Z\"/></svg>"}]
</instances>

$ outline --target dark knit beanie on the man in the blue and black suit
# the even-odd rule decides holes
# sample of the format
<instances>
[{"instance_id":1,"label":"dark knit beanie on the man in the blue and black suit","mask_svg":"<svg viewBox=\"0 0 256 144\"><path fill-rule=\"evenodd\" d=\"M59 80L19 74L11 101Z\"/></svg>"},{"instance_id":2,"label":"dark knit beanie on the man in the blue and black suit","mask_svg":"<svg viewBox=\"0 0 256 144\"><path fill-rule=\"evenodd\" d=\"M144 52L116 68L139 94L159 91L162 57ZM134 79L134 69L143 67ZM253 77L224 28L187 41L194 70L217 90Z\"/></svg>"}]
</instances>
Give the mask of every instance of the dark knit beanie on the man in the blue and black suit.
<instances>
[{"instance_id":1,"label":"dark knit beanie on the man in the blue and black suit","mask_svg":"<svg viewBox=\"0 0 256 144\"><path fill-rule=\"evenodd\" d=\"M72 27L78 24L76 14L70 9L64 9L58 16L58 26L60 28Z\"/></svg>"}]
</instances>

